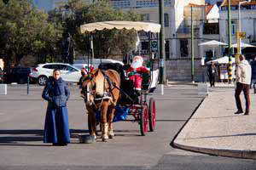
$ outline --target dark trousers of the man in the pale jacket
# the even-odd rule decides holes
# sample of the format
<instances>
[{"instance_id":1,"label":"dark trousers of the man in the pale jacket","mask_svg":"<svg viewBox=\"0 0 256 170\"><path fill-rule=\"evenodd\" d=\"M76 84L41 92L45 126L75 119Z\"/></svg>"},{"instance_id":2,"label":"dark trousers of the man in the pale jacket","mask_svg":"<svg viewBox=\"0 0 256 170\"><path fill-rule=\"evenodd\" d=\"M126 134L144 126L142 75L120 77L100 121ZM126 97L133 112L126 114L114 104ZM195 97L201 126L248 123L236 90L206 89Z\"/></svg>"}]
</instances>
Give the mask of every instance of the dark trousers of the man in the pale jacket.
<instances>
[{"instance_id":1,"label":"dark trousers of the man in the pale jacket","mask_svg":"<svg viewBox=\"0 0 256 170\"><path fill-rule=\"evenodd\" d=\"M241 82L236 83L236 107L238 111L242 111L241 107L241 99L240 99L240 94L241 91L243 91L244 98L246 99L246 112L250 111L250 105L251 105L251 100L250 100L250 85L249 84L243 84Z\"/></svg>"}]
</instances>

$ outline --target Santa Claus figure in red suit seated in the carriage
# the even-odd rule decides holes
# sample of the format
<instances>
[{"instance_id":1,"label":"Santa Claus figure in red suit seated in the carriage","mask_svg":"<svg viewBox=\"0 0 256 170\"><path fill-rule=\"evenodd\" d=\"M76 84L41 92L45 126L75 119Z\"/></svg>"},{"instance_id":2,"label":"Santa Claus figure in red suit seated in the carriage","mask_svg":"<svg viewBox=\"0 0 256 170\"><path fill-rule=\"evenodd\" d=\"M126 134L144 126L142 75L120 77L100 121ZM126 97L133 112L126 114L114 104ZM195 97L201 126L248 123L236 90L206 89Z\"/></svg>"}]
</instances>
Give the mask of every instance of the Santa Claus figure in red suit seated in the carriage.
<instances>
[{"instance_id":1,"label":"Santa Claus figure in red suit seated in the carriage","mask_svg":"<svg viewBox=\"0 0 256 170\"><path fill-rule=\"evenodd\" d=\"M141 74L149 73L147 67L143 66L143 57L135 56L132 60L131 67L127 70L128 77L132 80L137 91L142 90L143 77Z\"/></svg>"}]
</instances>

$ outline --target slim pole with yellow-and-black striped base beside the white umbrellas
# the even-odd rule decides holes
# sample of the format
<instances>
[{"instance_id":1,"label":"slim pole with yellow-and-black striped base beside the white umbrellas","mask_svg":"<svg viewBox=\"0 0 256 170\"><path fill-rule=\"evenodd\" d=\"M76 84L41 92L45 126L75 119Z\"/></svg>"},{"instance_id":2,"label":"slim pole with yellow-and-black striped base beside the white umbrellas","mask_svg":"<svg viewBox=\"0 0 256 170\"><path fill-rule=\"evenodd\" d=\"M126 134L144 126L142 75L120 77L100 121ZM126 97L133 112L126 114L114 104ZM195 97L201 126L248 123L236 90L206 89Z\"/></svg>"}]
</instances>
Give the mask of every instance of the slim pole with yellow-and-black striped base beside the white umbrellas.
<instances>
[{"instance_id":1,"label":"slim pole with yellow-and-black striped base beside the white umbrellas","mask_svg":"<svg viewBox=\"0 0 256 170\"><path fill-rule=\"evenodd\" d=\"M231 55L231 0L228 0L228 25L229 25L229 82L232 82L232 55Z\"/></svg>"}]
</instances>

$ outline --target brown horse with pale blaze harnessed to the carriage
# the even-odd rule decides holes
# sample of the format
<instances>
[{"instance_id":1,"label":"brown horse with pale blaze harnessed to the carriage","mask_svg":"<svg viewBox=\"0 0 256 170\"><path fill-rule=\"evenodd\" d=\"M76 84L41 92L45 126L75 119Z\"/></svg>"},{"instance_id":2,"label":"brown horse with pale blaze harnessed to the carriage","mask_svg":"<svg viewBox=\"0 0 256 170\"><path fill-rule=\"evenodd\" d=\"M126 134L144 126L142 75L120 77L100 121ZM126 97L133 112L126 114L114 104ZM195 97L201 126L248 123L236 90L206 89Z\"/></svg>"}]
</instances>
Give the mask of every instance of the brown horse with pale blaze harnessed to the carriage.
<instances>
[{"instance_id":1,"label":"brown horse with pale blaze harnessed to the carriage","mask_svg":"<svg viewBox=\"0 0 256 170\"><path fill-rule=\"evenodd\" d=\"M120 77L117 71L96 69L84 77L82 97L88 111L90 135L96 139L96 111L101 111L102 141L113 138L114 107L120 98Z\"/></svg>"}]
</instances>

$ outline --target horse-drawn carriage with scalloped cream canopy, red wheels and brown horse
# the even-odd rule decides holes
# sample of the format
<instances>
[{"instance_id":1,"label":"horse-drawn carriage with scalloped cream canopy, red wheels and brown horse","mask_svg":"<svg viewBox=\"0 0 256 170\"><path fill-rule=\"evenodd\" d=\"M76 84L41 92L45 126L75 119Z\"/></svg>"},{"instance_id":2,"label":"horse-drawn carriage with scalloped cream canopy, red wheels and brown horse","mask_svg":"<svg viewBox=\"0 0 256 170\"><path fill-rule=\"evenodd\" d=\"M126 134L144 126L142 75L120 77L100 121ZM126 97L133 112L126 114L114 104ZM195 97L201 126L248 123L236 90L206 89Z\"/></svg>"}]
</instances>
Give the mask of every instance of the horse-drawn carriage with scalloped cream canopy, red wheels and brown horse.
<instances>
[{"instance_id":1,"label":"horse-drawn carriage with scalloped cream canopy, red wheels and brown horse","mask_svg":"<svg viewBox=\"0 0 256 170\"><path fill-rule=\"evenodd\" d=\"M147 22L106 21L80 27L82 33L113 28L160 32L159 24ZM153 93L156 88L158 70L154 71L153 65L150 65L149 70L148 74L141 75L143 84L140 91L135 90L134 82L126 76L127 65L101 64L97 69L88 73L84 78L81 94L88 111L90 139L96 139L96 125L99 122L102 129L102 141L113 138L112 122L138 122L142 135L148 131L154 131L155 101L153 97L148 99L148 94Z\"/></svg>"}]
</instances>

